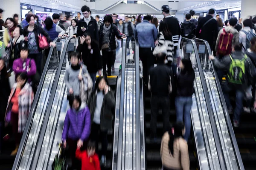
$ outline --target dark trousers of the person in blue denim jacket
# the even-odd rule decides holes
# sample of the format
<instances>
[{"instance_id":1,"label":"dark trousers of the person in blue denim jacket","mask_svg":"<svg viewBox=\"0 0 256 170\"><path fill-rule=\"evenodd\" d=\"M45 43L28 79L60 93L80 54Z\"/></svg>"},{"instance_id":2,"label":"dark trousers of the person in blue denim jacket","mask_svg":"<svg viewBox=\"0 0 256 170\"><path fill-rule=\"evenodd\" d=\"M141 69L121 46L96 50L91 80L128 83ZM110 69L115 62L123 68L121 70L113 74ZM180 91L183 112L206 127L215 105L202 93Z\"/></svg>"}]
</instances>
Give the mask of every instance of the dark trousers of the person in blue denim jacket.
<instances>
[{"instance_id":1,"label":"dark trousers of the person in blue denim jacket","mask_svg":"<svg viewBox=\"0 0 256 170\"><path fill-rule=\"evenodd\" d=\"M140 48L140 59L143 65L143 81L145 85L148 85L148 71L151 67L154 67L155 58L151 48Z\"/></svg>"}]
</instances>

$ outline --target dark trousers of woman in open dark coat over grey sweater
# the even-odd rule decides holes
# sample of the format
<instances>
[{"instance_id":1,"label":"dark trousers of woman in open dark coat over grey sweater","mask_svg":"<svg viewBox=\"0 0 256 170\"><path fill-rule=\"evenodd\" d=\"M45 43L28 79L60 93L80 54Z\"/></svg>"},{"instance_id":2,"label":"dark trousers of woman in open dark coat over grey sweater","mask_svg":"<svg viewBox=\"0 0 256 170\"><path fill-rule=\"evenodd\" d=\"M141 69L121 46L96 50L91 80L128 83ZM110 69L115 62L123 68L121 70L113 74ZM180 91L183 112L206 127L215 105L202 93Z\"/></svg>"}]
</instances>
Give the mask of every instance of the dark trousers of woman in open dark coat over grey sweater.
<instances>
[{"instance_id":1,"label":"dark trousers of woman in open dark coat over grey sweater","mask_svg":"<svg viewBox=\"0 0 256 170\"><path fill-rule=\"evenodd\" d=\"M96 145L96 153L99 154L99 133L101 136L102 149L101 154L106 155L108 150L108 130L100 130L100 125L93 122L91 126L91 140L95 142Z\"/></svg>"}]
</instances>

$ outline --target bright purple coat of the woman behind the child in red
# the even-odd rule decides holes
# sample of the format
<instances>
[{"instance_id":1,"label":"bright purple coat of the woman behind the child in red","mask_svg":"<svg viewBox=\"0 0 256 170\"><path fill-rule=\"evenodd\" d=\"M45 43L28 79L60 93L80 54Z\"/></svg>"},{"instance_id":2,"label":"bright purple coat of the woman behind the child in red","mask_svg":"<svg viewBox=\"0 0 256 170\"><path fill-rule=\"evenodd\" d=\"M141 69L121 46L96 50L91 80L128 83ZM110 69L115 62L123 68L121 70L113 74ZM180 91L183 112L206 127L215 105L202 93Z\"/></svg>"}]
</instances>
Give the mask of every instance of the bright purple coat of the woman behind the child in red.
<instances>
[{"instance_id":1,"label":"bright purple coat of the woman behind the child in red","mask_svg":"<svg viewBox=\"0 0 256 170\"><path fill-rule=\"evenodd\" d=\"M88 107L80 109L78 112L70 108L65 117L62 139L87 140L90 135L90 123Z\"/></svg>"}]
</instances>

